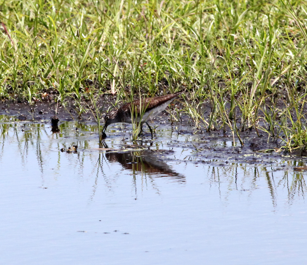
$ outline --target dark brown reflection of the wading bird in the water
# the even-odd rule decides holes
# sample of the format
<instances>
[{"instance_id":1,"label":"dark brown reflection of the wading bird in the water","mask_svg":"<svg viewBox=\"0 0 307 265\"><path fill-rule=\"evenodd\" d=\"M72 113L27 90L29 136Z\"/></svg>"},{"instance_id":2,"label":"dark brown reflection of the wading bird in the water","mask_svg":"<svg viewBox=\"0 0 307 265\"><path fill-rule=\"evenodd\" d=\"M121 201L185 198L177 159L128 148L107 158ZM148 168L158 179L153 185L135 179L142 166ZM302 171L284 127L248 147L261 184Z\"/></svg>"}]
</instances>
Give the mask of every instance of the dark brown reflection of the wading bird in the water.
<instances>
[{"instance_id":1,"label":"dark brown reflection of the wading bird in the water","mask_svg":"<svg viewBox=\"0 0 307 265\"><path fill-rule=\"evenodd\" d=\"M119 162L122 167L133 171L134 174L142 172L154 177L170 177L176 182L185 182L185 176L174 171L167 163L153 155L152 150L125 153L106 153L110 162Z\"/></svg>"}]
</instances>

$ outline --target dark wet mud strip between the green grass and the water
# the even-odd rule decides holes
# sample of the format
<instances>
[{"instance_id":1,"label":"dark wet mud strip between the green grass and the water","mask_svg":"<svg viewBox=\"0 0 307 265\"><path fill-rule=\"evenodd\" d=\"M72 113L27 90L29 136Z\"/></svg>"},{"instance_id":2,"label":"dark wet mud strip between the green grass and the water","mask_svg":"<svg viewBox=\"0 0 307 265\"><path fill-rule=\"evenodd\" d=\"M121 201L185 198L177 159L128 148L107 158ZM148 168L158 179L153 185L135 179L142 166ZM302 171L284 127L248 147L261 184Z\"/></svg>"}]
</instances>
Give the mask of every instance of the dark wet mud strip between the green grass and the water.
<instances>
[{"instance_id":1,"label":"dark wet mud strip between the green grass and the water","mask_svg":"<svg viewBox=\"0 0 307 265\"><path fill-rule=\"evenodd\" d=\"M46 124L46 126L50 124L51 117L55 115L59 118L59 125L66 121L76 121L76 124L78 123L80 125L96 125L93 114L89 111L82 113L81 117L79 117L76 106L72 102L67 103L65 106L46 103L37 103L35 105L2 103L0 105L0 115L14 117L14 121L26 123L34 121L36 123ZM12 121L2 120L2 122ZM185 161L212 163L214 165L224 166L229 165L229 163L270 164L286 160L297 161L299 165L304 166L307 160L304 156L301 156L300 152L293 152L291 154L284 151L275 152L280 146L276 142L268 141L265 135L258 137L256 131L253 129L240 133L244 142L244 146L242 147L236 137L235 144L233 143L230 129L225 134L220 131L204 132L201 130L194 133L195 125L185 115L181 115L180 121L172 123L169 114L163 111L161 115L153 120L151 125L153 127L156 126L154 139L151 140L150 133L146 131L142 140L135 142L135 144L156 150L161 149L161 146L157 147L157 143L163 143L163 149L166 151L155 154L155 157L161 161L176 159L172 154L172 150L176 148L190 151L189 155L183 159ZM123 126L124 128L129 128L130 125ZM110 125L110 131L107 132L107 138L105 139L106 143L110 144L111 141L120 138L124 139L124 142L122 142L123 145L131 144L129 133L125 129L118 128L118 126L112 127ZM172 137L162 137L161 132L164 130L170 130L170 136ZM177 140L173 136L181 136L181 140ZM184 137L184 141L182 137ZM261 152L268 149L270 149L268 153Z\"/></svg>"}]
</instances>

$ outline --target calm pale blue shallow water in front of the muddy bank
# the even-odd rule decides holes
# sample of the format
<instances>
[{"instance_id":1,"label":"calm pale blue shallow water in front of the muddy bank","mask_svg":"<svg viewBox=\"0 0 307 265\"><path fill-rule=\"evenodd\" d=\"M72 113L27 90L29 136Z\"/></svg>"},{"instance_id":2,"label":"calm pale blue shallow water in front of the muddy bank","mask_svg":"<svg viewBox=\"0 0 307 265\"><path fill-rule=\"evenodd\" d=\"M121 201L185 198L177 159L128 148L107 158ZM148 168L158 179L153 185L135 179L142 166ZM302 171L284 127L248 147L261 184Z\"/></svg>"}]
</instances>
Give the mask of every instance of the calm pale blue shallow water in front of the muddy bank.
<instances>
[{"instance_id":1,"label":"calm pale blue shallow water in front of the muddy bank","mask_svg":"<svg viewBox=\"0 0 307 265\"><path fill-rule=\"evenodd\" d=\"M91 124L52 133L2 116L0 127L2 264L307 262L306 173L293 159L202 157L188 143L203 139L170 125L143 142L167 151L125 153L95 149ZM108 129L109 148L131 144L129 126Z\"/></svg>"}]
</instances>

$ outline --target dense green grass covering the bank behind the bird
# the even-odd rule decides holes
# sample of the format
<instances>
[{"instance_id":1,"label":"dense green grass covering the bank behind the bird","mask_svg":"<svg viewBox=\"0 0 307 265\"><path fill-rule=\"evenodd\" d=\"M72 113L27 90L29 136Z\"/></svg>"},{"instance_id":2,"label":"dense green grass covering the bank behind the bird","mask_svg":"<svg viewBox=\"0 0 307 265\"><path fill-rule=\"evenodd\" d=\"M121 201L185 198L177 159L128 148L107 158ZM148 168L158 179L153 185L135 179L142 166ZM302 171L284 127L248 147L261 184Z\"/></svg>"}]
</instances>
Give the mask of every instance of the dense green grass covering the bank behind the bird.
<instances>
[{"instance_id":1,"label":"dense green grass covering the bank behind the bird","mask_svg":"<svg viewBox=\"0 0 307 265\"><path fill-rule=\"evenodd\" d=\"M73 98L82 115L104 94L185 89L195 132L252 126L305 148L306 19L305 1L2 1L0 98Z\"/></svg>"}]
</instances>

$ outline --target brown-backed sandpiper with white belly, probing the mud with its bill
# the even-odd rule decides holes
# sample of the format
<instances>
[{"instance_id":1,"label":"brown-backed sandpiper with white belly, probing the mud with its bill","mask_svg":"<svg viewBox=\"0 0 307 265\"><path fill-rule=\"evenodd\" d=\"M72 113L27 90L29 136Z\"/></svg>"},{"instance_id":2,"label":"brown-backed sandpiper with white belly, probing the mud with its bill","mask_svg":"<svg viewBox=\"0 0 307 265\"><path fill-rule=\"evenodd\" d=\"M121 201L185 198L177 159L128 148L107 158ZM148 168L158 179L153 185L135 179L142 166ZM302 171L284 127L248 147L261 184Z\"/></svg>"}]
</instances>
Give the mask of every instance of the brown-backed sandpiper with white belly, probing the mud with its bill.
<instances>
[{"instance_id":1,"label":"brown-backed sandpiper with white belly, probing the mud with its bill","mask_svg":"<svg viewBox=\"0 0 307 265\"><path fill-rule=\"evenodd\" d=\"M140 134L143 131L143 124L146 123L150 130L151 137L153 137L153 130L149 126L148 121L152 120L159 113L161 113L161 111L163 111L167 107L167 105L169 105L170 102L172 102L177 96L182 93L183 91L179 91L166 96L145 98L141 101L137 99L133 102L126 103L117 110L112 110L108 112L104 117L105 123L102 129L102 139L107 137L105 130L107 129L108 125L116 122L132 123L132 114L133 117L136 117L137 123L141 123Z\"/></svg>"}]
</instances>

